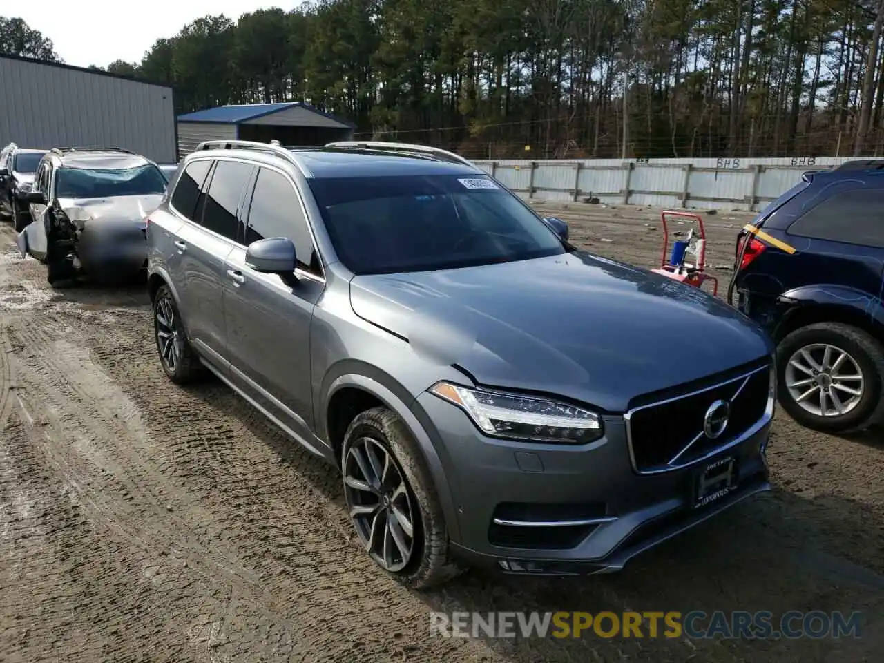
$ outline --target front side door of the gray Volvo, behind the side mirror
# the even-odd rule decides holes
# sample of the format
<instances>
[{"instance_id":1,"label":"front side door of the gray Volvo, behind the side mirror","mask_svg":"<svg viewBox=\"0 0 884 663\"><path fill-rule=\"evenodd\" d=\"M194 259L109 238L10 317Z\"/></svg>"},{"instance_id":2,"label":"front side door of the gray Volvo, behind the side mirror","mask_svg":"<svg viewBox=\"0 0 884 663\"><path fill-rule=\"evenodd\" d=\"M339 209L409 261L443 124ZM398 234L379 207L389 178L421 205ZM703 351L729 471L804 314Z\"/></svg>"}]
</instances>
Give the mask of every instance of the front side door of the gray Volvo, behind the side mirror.
<instances>
[{"instance_id":1,"label":"front side door of the gray Volvo, behind the side mirror","mask_svg":"<svg viewBox=\"0 0 884 663\"><path fill-rule=\"evenodd\" d=\"M293 179L261 166L248 201L246 240L287 237L292 275L263 274L246 264L246 248L227 255L225 318L231 378L309 445L314 443L310 324L325 287L323 270Z\"/></svg>"}]
</instances>

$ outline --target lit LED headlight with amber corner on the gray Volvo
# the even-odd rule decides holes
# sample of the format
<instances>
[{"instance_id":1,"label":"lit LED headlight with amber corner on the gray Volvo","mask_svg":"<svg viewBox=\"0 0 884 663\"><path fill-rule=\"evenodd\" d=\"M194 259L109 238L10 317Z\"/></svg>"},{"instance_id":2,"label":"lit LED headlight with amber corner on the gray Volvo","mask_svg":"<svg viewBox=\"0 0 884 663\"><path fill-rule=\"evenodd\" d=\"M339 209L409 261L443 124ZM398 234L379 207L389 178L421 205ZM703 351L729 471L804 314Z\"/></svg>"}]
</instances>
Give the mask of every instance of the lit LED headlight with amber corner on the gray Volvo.
<instances>
[{"instance_id":1,"label":"lit LED headlight with amber corner on the gray Volvo","mask_svg":"<svg viewBox=\"0 0 884 663\"><path fill-rule=\"evenodd\" d=\"M585 445L603 435L598 415L554 400L447 382L433 385L430 392L461 408L484 433L500 438Z\"/></svg>"}]
</instances>

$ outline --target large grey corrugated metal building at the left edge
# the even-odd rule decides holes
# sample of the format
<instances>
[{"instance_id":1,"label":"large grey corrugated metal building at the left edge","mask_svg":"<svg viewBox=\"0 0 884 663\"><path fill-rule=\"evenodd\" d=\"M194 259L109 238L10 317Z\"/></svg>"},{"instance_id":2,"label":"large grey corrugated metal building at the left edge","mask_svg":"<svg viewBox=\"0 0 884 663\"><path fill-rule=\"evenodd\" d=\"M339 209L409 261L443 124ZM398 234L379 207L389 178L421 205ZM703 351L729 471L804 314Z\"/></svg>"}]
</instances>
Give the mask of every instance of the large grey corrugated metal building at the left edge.
<instances>
[{"instance_id":1,"label":"large grey corrugated metal building at the left edge","mask_svg":"<svg viewBox=\"0 0 884 663\"><path fill-rule=\"evenodd\" d=\"M128 149L174 163L172 89L92 69L0 56L0 145Z\"/></svg>"}]
</instances>

